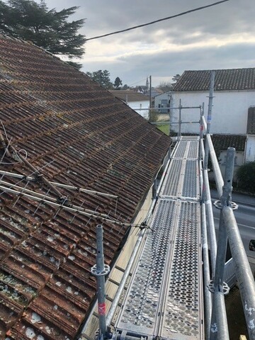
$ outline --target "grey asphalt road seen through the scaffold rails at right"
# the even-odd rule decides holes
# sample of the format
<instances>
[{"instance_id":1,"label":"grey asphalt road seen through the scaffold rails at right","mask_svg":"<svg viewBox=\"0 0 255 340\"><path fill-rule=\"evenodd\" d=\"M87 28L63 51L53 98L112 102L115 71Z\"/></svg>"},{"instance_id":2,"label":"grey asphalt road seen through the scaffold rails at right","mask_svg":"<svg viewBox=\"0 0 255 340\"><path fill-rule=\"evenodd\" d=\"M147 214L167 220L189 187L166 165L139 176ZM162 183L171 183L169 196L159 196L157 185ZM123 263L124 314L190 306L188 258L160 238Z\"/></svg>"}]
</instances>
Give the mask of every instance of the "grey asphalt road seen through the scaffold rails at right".
<instances>
[{"instance_id":1,"label":"grey asphalt road seen through the scaffold rails at right","mask_svg":"<svg viewBox=\"0 0 255 340\"><path fill-rule=\"evenodd\" d=\"M211 191L212 203L218 200L217 191ZM249 261L255 263L255 251L249 250L249 242L251 239L255 239L255 198L238 193L232 194L232 201L237 203L238 209L234 210L234 216L237 220L239 232L244 243ZM220 210L213 206L213 215L215 220L215 228L219 227ZM251 258L251 259L250 259Z\"/></svg>"}]
</instances>

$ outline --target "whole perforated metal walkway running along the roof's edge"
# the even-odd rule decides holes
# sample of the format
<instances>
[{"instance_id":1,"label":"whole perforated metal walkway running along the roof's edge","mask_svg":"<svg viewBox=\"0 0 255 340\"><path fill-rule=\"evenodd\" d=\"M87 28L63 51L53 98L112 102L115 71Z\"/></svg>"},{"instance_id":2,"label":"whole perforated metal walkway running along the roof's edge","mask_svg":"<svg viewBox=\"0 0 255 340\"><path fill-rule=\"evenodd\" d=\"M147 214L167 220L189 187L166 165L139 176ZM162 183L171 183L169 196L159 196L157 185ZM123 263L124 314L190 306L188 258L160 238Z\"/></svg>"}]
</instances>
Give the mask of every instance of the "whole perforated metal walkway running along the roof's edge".
<instances>
[{"instance_id":1,"label":"whole perforated metal walkway running along the roof's edge","mask_svg":"<svg viewBox=\"0 0 255 340\"><path fill-rule=\"evenodd\" d=\"M204 339L198 137L173 152L117 324L125 336Z\"/></svg>"}]
</instances>

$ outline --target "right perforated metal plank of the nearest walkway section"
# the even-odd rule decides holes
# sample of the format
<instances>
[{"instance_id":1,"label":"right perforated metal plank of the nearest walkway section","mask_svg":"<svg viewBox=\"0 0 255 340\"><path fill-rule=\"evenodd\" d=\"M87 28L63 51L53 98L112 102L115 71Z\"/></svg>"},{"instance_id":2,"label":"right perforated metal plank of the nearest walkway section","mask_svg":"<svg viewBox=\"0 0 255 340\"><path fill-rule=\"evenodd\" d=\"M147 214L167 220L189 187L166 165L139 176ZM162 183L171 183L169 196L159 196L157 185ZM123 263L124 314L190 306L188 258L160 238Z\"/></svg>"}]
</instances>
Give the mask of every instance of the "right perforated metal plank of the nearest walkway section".
<instances>
[{"instance_id":1,"label":"right perforated metal plank of the nearest walkway section","mask_svg":"<svg viewBox=\"0 0 255 340\"><path fill-rule=\"evenodd\" d=\"M203 339L200 203L180 202L159 336Z\"/></svg>"}]
</instances>

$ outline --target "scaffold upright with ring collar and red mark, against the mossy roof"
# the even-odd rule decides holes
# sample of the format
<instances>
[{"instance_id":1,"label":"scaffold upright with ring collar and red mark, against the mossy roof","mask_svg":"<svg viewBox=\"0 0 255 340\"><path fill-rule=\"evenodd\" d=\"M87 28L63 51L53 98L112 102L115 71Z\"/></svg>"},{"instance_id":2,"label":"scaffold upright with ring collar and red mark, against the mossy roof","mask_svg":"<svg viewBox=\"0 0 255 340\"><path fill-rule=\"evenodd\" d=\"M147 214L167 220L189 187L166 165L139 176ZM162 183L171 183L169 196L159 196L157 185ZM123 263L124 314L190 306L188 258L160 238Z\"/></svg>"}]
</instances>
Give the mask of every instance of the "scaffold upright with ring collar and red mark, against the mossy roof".
<instances>
[{"instance_id":1,"label":"scaffold upright with ring collar and red mark, against the mossy roof","mask_svg":"<svg viewBox=\"0 0 255 340\"><path fill-rule=\"evenodd\" d=\"M103 226L96 226L96 264L91 268L91 274L96 276L98 288L98 319L99 332L98 340L106 337L106 288L105 276L109 273L110 267L104 264L103 256Z\"/></svg>"}]
</instances>

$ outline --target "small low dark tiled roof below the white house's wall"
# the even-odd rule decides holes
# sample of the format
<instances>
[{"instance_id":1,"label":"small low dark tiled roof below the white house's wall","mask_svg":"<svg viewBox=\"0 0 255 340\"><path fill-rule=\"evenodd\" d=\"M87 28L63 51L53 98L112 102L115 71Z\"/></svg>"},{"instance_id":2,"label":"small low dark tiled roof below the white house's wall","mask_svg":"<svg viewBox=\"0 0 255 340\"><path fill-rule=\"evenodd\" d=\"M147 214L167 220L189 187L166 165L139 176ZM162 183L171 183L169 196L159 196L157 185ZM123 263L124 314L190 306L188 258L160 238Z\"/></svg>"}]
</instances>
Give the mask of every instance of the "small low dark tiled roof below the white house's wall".
<instances>
[{"instance_id":1,"label":"small low dark tiled roof below the white house's wall","mask_svg":"<svg viewBox=\"0 0 255 340\"><path fill-rule=\"evenodd\" d=\"M212 135L212 144L217 150L234 147L236 151L244 151L246 135Z\"/></svg>"}]
</instances>

